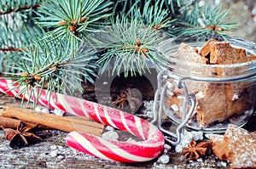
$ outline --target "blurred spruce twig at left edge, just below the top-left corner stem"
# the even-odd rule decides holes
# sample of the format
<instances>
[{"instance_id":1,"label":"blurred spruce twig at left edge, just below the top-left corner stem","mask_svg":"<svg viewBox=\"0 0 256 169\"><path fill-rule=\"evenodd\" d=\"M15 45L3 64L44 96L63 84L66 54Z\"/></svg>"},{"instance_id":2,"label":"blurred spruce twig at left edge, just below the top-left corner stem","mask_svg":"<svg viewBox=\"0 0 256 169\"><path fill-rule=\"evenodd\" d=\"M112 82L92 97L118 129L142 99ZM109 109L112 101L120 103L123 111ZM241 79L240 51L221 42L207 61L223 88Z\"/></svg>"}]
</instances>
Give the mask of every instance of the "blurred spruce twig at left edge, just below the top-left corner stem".
<instances>
[{"instance_id":1,"label":"blurred spruce twig at left edge, just below the top-left corner stem","mask_svg":"<svg viewBox=\"0 0 256 169\"><path fill-rule=\"evenodd\" d=\"M44 30L34 25L33 15L32 8L22 13L0 15L0 70L9 71L8 65L14 65L6 59L6 54L20 53L24 49L23 46L44 34Z\"/></svg>"}]
</instances>

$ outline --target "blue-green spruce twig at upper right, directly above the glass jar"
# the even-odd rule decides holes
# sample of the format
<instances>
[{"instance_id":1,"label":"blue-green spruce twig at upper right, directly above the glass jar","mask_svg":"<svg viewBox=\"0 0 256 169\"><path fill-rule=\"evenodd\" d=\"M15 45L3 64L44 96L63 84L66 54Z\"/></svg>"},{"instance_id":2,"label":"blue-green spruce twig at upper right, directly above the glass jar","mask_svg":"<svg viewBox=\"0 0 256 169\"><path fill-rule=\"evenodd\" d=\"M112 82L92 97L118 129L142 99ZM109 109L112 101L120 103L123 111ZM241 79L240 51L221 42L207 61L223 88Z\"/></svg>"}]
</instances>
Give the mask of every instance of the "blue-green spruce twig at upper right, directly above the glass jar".
<instances>
[{"instance_id":1,"label":"blue-green spruce twig at upper right, directly above the glass jar","mask_svg":"<svg viewBox=\"0 0 256 169\"><path fill-rule=\"evenodd\" d=\"M235 21L225 22L230 10L223 10L207 4L201 8L195 3L194 8L186 8L178 18L175 28L170 30L177 36L198 37L197 39L209 39L214 37L225 38L225 31L234 31L237 28Z\"/></svg>"}]
</instances>

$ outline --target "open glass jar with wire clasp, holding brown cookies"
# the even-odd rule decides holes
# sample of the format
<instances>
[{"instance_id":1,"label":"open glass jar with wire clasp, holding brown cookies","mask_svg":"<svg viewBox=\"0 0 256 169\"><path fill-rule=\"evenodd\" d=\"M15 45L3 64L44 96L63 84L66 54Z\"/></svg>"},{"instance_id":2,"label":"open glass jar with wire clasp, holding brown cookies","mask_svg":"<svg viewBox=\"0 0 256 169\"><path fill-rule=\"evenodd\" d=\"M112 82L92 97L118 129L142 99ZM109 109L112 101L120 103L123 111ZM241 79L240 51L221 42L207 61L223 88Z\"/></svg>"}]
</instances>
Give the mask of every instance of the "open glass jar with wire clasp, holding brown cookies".
<instances>
[{"instance_id":1,"label":"open glass jar with wire clasp, holding brown cookies","mask_svg":"<svg viewBox=\"0 0 256 169\"><path fill-rule=\"evenodd\" d=\"M189 41L188 41L189 40ZM230 46L244 48L247 55L256 55L253 42L227 37ZM154 120L163 132L162 113L172 122L201 132L225 132L229 124L243 126L256 100L256 59L241 64L203 65L178 59L177 48L181 42L190 47L200 48L205 42L193 39L173 38L160 44L158 48L170 64L158 75L158 90L154 99ZM158 106L159 104L159 106Z\"/></svg>"}]
</instances>

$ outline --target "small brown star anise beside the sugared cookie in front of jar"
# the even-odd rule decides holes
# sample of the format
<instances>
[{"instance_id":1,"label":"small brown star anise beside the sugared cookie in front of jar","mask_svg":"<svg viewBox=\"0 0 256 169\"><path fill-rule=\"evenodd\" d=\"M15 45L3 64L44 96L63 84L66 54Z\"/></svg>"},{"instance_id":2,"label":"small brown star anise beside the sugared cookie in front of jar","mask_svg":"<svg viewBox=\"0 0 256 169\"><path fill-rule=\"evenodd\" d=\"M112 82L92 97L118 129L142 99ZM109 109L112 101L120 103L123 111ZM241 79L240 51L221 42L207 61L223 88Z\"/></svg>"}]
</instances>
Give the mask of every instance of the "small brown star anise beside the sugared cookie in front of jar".
<instances>
[{"instance_id":1,"label":"small brown star anise beside the sugared cookie in front of jar","mask_svg":"<svg viewBox=\"0 0 256 169\"><path fill-rule=\"evenodd\" d=\"M201 142L196 144L195 140L192 140L189 147L184 147L182 154L194 161L206 155L207 151L212 148L212 142Z\"/></svg>"}]
</instances>

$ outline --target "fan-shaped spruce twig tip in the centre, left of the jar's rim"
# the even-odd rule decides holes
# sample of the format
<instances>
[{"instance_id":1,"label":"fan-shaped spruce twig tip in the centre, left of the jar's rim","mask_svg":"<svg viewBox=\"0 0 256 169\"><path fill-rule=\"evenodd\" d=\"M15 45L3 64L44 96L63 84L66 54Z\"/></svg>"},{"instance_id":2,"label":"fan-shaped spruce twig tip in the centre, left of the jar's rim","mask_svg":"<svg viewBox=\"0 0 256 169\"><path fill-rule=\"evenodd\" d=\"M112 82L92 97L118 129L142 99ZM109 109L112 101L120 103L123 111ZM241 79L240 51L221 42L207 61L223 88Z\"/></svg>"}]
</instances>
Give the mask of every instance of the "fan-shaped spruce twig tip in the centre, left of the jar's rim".
<instances>
[{"instance_id":1,"label":"fan-shaped spruce twig tip in the centre, left of the jar's rim","mask_svg":"<svg viewBox=\"0 0 256 169\"><path fill-rule=\"evenodd\" d=\"M112 26L91 37L91 48L104 50L97 64L102 65L100 73L113 66L113 73L125 76L142 75L149 70L147 60L154 65L165 65L166 59L156 53L156 46L163 40L160 31L145 26L141 21L117 18ZM105 51L107 49L107 51Z\"/></svg>"}]
</instances>

